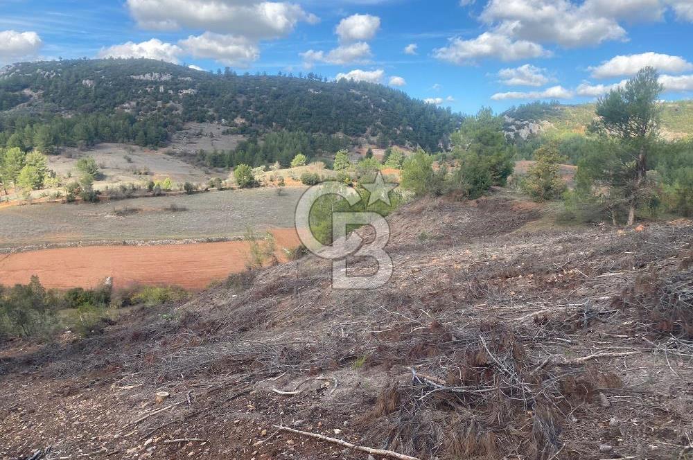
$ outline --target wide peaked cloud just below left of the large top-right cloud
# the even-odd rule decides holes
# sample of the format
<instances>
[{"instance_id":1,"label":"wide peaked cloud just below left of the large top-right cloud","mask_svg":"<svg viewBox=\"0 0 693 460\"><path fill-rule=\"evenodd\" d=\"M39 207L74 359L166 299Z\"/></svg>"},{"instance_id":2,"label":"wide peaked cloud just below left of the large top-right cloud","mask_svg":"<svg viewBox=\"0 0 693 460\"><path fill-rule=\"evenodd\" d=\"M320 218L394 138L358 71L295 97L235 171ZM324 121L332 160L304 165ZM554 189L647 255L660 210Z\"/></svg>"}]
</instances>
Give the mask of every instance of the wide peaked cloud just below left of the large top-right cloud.
<instances>
[{"instance_id":1,"label":"wide peaked cloud just below left of the large top-right cloud","mask_svg":"<svg viewBox=\"0 0 693 460\"><path fill-rule=\"evenodd\" d=\"M484 32L475 39L450 39L450 44L433 51L439 60L453 64L474 64L477 59L497 57L502 61L548 56L550 53L541 45L526 40L512 40L506 35Z\"/></svg>"}]
</instances>

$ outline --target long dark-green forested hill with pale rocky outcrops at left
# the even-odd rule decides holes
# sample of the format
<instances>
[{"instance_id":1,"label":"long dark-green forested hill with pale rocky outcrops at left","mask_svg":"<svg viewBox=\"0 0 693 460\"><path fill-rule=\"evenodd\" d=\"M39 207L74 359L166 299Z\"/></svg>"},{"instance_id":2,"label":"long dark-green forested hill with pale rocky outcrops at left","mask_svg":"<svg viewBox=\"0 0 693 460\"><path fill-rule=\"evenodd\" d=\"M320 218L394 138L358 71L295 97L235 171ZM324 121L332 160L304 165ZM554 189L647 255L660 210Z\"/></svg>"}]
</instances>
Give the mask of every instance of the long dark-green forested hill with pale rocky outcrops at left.
<instances>
[{"instance_id":1,"label":"long dark-green forested hill with pale rocky outcrops at left","mask_svg":"<svg viewBox=\"0 0 693 460\"><path fill-rule=\"evenodd\" d=\"M0 71L0 146L161 145L195 121L238 134L368 136L437 150L462 120L383 85L302 77L209 73L143 59L14 64Z\"/></svg>"}]
</instances>

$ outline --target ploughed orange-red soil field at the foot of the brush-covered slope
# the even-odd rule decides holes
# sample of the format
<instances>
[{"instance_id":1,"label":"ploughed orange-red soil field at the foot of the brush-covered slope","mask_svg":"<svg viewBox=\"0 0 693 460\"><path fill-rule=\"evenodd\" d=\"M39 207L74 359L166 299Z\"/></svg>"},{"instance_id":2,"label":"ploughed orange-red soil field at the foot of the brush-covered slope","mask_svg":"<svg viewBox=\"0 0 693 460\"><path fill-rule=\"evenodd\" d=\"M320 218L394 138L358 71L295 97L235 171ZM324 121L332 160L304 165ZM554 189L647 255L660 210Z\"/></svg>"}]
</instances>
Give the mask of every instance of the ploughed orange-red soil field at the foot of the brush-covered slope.
<instances>
[{"instance_id":1,"label":"ploughed orange-red soil field at the foot of the brush-covered slope","mask_svg":"<svg viewBox=\"0 0 693 460\"><path fill-rule=\"evenodd\" d=\"M295 229L274 229L277 256L299 245ZM161 246L87 246L0 256L0 285L28 283L37 275L46 288L93 288L113 277L114 286L177 285L196 290L245 269L249 243L210 242Z\"/></svg>"}]
</instances>

